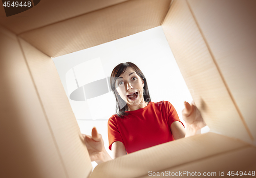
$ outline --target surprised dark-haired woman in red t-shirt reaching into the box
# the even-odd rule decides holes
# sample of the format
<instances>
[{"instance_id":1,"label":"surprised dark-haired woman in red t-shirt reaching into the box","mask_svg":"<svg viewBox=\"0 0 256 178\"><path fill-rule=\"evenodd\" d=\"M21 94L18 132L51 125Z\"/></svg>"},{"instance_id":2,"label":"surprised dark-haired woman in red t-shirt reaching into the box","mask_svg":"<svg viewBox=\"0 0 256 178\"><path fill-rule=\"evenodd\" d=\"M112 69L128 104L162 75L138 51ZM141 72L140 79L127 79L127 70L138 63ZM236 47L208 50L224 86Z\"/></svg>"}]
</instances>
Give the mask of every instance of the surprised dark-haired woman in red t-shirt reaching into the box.
<instances>
[{"instance_id":1,"label":"surprised dark-haired woman in red t-shirt reaching into the box","mask_svg":"<svg viewBox=\"0 0 256 178\"><path fill-rule=\"evenodd\" d=\"M108 121L109 148L114 158L195 135L206 125L195 105L184 103L185 130L172 104L168 101L151 102L145 76L134 63L117 65L112 71L110 84L117 101L117 114ZM95 127L92 136L84 137L91 161L100 164L112 160Z\"/></svg>"}]
</instances>

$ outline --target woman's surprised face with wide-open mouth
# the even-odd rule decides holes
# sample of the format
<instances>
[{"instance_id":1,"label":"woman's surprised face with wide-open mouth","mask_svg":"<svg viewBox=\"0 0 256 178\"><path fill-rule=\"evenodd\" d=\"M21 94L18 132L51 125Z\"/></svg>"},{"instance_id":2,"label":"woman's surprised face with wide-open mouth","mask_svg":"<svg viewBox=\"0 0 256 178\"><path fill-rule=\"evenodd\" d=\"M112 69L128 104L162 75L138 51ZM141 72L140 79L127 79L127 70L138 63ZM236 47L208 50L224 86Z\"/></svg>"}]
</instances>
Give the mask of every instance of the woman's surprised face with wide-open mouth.
<instances>
[{"instance_id":1,"label":"woman's surprised face with wide-open mouth","mask_svg":"<svg viewBox=\"0 0 256 178\"><path fill-rule=\"evenodd\" d=\"M129 108L139 106L144 102L144 81L132 68L127 68L115 83L117 94L127 103Z\"/></svg>"}]
</instances>

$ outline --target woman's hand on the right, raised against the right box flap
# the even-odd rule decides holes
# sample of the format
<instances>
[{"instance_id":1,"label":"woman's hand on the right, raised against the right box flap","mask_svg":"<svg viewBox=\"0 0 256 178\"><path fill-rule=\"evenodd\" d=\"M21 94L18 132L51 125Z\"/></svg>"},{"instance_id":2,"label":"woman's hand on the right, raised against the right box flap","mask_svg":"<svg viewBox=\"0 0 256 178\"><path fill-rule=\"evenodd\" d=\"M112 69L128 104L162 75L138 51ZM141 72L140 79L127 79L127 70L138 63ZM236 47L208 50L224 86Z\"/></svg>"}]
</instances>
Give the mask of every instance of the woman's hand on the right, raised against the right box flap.
<instances>
[{"instance_id":1,"label":"woman's hand on the right, raised against the right box flap","mask_svg":"<svg viewBox=\"0 0 256 178\"><path fill-rule=\"evenodd\" d=\"M185 101L184 105L185 109L182 110L182 117L187 126L185 137L189 137L195 135L197 130L206 126L206 123L204 122L194 101L192 101L191 105Z\"/></svg>"}]
</instances>

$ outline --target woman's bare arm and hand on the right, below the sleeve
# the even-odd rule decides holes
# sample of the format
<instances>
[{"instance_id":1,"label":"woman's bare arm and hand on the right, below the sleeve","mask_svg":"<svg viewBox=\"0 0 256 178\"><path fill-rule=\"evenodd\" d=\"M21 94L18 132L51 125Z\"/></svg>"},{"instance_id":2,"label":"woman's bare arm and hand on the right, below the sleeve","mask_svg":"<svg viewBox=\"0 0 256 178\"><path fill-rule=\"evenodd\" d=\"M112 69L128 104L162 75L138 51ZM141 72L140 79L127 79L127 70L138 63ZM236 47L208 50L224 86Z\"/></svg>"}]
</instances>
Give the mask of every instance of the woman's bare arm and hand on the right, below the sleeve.
<instances>
[{"instance_id":1,"label":"woman's bare arm and hand on the right, below the sleeve","mask_svg":"<svg viewBox=\"0 0 256 178\"><path fill-rule=\"evenodd\" d=\"M194 136L197 131L206 126L198 108L195 103L190 105L188 102L184 102L185 109L182 110L183 120L186 122L187 129L179 121L175 121L170 125L170 130L174 136L174 139L180 139L184 137Z\"/></svg>"}]
</instances>

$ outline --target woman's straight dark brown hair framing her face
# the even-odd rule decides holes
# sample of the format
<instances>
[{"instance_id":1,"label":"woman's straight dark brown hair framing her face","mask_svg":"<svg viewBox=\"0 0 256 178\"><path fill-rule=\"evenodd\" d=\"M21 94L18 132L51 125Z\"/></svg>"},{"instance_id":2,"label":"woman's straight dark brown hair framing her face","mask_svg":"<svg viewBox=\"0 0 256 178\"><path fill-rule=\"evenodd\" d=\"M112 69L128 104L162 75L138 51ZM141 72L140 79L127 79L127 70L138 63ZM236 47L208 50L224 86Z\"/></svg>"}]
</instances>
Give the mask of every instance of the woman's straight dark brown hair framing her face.
<instances>
[{"instance_id":1,"label":"woman's straight dark brown hair framing her face","mask_svg":"<svg viewBox=\"0 0 256 178\"><path fill-rule=\"evenodd\" d=\"M110 85L111 85L111 90L113 91L115 97L116 97L116 114L120 117L123 118L123 116L127 116L128 114L125 113L126 110L128 110L128 106L126 102L117 94L115 83L117 78L125 72L125 70L130 67L132 68L136 74L144 81L144 86L143 86L143 98L145 102L150 102L150 93L148 92L148 86L146 82L146 78L144 74L141 72L141 70L138 68L137 65L135 65L132 62L125 62L125 63L120 63L115 68L113 69L110 77Z\"/></svg>"}]
</instances>

